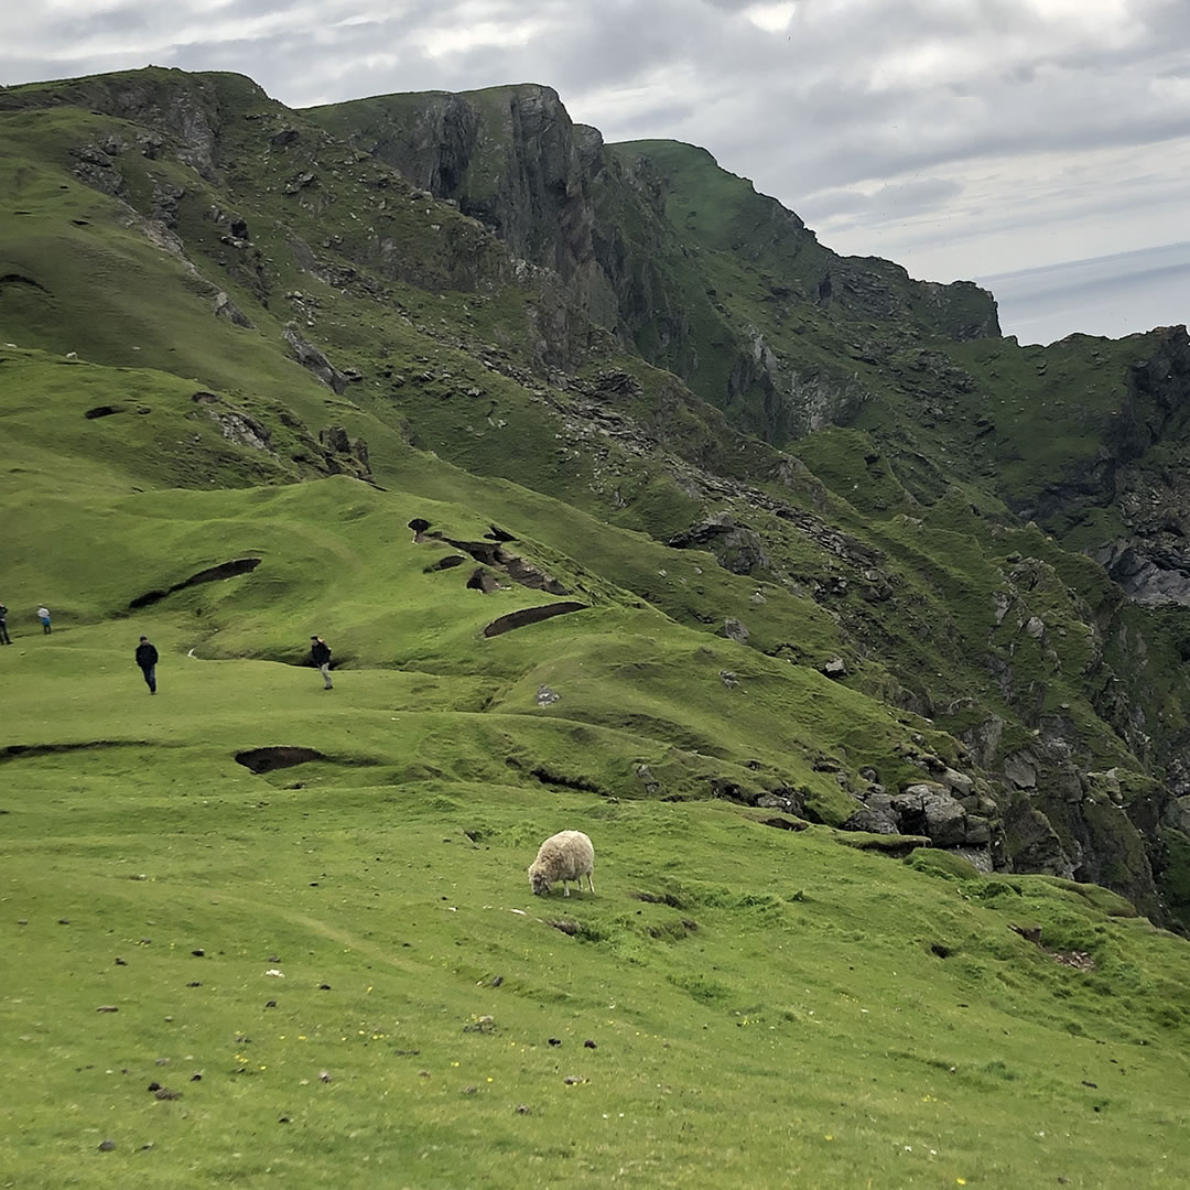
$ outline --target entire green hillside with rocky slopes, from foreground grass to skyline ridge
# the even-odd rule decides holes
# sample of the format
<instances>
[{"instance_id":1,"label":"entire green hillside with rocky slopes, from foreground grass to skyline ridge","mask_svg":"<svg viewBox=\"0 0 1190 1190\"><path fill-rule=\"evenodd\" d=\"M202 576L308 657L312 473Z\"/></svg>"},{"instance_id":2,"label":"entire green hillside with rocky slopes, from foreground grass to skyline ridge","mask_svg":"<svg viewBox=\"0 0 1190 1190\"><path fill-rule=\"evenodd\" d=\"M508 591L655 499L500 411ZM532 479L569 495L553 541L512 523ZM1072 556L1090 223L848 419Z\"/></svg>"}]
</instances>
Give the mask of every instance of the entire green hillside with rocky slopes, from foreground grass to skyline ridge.
<instances>
[{"instance_id":1,"label":"entire green hillside with rocky slopes, from foreground grass to skyline ridge","mask_svg":"<svg viewBox=\"0 0 1190 1190\"><path fill-rule=\"evenodd\" d=\"M551 95L0 93L0 1184L1176 1182L1177 342Z\"/></svg>"}]
</instances>

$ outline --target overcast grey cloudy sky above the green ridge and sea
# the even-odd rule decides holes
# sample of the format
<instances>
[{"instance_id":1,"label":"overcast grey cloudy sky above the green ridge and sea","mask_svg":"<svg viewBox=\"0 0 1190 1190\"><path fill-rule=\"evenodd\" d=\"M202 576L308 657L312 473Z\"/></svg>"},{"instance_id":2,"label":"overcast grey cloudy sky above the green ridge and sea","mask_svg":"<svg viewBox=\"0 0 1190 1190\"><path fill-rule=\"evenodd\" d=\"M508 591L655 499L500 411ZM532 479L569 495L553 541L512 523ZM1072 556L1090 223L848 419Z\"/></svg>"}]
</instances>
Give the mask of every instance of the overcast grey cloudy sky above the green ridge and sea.
<instances>
[{"instance_id":1,"label":"overcast grey cloudy sky above the green ridge and sea","mask_svg":"<svg viewBox=\"0 0 1190 1190\"><path fill-rule=\"evenodd\" d=\"M292 107L546 83L606 139L702 145L829 248L929 280L1190 238L1190 0L36 0L5 13L5 84L150 63L239 71Z\"/></svg>"}]
</instances>

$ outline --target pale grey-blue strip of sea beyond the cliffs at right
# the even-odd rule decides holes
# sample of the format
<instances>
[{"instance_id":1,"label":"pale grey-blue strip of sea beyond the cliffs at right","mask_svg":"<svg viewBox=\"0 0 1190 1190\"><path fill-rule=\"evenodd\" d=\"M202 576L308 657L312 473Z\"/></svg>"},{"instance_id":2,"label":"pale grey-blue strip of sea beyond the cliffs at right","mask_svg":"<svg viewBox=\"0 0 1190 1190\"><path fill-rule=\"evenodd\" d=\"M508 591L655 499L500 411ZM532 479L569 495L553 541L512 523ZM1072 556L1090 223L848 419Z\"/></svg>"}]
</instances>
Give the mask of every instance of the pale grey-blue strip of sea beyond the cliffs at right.
<instances>
[{"instance_id":1,"label":"pale grey-blue strip of sea beyond the cliffs at right","mask_svg":"<svg viewBox=\"0 0 1190 1190\"><path fill-rule=\"evenodd\" d=\"M1021 343L1067 334L1117 339L1190 321L1190 242L976 277Z\"/></svg>"}]
</instances>

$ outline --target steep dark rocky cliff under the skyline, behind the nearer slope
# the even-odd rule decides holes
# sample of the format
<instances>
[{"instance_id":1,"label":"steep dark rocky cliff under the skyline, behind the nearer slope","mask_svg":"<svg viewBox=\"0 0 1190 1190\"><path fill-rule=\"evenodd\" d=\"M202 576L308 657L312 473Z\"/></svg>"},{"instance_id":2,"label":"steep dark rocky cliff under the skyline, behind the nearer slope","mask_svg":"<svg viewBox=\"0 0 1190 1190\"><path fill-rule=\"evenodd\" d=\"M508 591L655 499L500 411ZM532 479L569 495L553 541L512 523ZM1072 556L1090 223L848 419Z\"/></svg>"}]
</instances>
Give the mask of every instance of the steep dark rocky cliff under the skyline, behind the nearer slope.
<instances>
[{"instance_id":1,"label":"steep dark rocky cliff under the skyline, behind the nearer slope","mask_svg":"<svg viewBox=\"0 0 1190 1190\"><path fill-rule=\"evenodd\" d=\"M828 322L854 322L847 337L865 340L857 350L872 364L907 336L1000 333L977 287L839 257L706 151L606 146L549 87L392 95L306 114L557 274L587 318L774 443L847 421L873 393L854 369L806 350L802 320L829 311ZM707 178L712 218L691 220ZM727 274L743 262L757 294L727 292L728 257ZM868 342L873 320L883 344Z\"/></svg>"}]
</instances>

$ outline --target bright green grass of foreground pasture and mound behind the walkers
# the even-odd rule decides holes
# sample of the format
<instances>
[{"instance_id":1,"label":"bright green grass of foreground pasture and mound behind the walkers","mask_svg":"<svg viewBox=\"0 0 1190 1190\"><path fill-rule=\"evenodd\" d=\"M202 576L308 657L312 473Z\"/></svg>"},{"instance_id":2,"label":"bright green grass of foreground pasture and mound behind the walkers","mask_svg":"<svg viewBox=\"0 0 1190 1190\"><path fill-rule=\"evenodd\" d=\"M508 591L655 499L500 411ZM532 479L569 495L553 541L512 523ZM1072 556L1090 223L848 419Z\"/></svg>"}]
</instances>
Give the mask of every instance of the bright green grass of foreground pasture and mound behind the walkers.
<instances>
[{"instance_id":1,"label":"bright green grass of foreground pasture and mound behind the walkers","mask_svg":"<svg viewBox=\"0 0 1190 1190\"><path fill-rule=\"evenodd\" d=\"M707 801L726 774L828 809L822 741L887 768L904 728L590 577L593 612L487 640L494 608L541 593L424 574L439 547L412 543L413 508L484 527L339 478L62 496L10 544L31 572L73 519L75 566L96 564L52 637L14 616L0 654L25 749L0 759L0 1010L36 1088L0 1129L14 1185L319 1180L345 1159L365 1184L546 1185L559 1161L580 1185L1167 1180L1184 942L1102 890L938 881ZM251 575L120 614L248 550ZM344 663L331 693L295 664L308 628ZM560 697L539 708L543 684ZM264 745L324 759L236 763ZM534 900L524 870L564 826L595 839L599 891Z\"/></svg>"}]
</instances>

